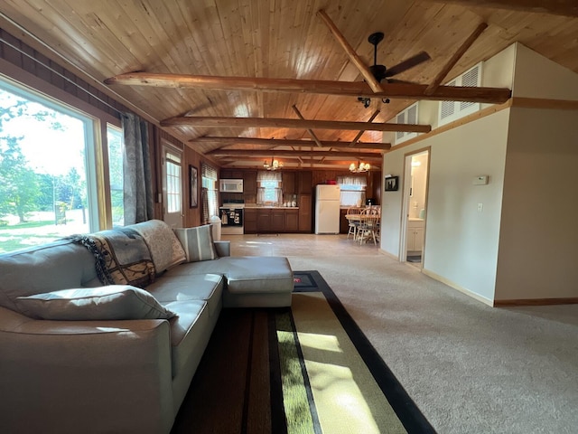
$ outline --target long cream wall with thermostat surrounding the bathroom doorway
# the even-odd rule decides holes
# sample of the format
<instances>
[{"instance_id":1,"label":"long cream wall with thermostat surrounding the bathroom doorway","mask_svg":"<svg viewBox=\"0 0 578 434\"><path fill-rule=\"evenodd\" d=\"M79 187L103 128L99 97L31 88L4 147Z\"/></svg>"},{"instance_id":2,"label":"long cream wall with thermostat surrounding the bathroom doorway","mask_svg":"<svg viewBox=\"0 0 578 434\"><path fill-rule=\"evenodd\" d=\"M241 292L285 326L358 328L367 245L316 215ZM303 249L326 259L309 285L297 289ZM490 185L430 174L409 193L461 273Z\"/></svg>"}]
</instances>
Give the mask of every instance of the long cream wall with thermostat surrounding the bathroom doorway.
<instances>
[{"instance_id":1,"label":"long cream wall with thermostat surrounding the bathroom doorway","mask_svg":"<svg viewBox=\"0 0 578 434\"><path fill-rule=\"evenodd\" d=\"M431 146L424 270L486 300L494 297L508 113L389 152L384 162L387 173L401 174L406 153ZM489 184L473 185L477 175L489 175ZM396 256L401 199L401 191L384 193L381 248Z\"/></svg>"}]
</instances>

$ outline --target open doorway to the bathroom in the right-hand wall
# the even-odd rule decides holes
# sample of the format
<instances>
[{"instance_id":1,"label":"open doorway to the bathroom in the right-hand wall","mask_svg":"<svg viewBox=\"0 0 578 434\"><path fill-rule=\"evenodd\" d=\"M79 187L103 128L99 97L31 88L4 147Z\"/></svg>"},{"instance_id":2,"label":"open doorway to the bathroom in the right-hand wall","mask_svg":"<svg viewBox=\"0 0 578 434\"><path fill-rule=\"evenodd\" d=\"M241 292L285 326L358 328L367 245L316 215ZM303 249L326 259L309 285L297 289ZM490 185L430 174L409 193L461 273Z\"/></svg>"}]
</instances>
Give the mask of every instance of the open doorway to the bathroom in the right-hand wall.
<instances>
[{"instance_id":1,"label":"open doorway to the bathroom in the right-hand wall","mask_svg":"<svg viewBox=\"0 0 578 434\"><path fill-rule=\"evenodd\" d=\"M430 149L406 154L399 258L423 268Z\"/></svg>"}]
</instances>

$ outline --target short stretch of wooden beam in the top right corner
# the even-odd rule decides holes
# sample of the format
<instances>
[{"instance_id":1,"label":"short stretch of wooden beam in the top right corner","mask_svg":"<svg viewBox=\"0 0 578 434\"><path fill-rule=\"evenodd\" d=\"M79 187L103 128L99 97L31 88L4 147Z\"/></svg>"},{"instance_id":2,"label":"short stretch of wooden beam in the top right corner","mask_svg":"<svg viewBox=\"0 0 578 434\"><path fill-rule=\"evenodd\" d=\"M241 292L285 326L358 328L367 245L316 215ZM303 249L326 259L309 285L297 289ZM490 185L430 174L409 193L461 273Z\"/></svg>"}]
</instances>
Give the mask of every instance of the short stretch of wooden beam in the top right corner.
<instances>
[{"instance_id":1,"label":"short stretch of wooden beam in the top right corner","mask_svg":"<svg viewBox=\"0 0 578 434\"><path fill-rule=\"evenodd\" d=\"M439 0L426 0L439 3ZM462 6L492 7L510 11L536 12L540 14L555 14L578 16L576 0L446 0L445 3Z\"/></svg>"}]
</instances>

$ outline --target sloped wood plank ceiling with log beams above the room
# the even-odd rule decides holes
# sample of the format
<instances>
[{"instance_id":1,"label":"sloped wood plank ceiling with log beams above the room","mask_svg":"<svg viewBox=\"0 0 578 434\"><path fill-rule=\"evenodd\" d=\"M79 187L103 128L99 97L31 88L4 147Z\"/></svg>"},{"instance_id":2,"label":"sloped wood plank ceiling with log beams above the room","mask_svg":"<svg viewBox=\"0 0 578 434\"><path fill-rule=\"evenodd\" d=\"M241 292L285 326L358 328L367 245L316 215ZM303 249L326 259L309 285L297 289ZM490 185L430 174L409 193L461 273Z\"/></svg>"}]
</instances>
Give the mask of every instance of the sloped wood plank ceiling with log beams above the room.
<instances>
[{"instance_id":1,"label":"sloped wood plank ceiling with log beams above the room","mask_svg":"<svg viewBox=\"0 0 578 434\"><path fill-rule=\"evenodd\" d=\"M62 66L81 71L219 165L245 167L262 165L275 151L285 166L345 168L363 157L378 167L387 148L382 131L396 129L387 124L399 111L426 94L464 98L436 90L434 80L451 79L512 42L578 72L577 16L574 0L0 4L0 25L8 32ZM331 24L339 34L331 33ZM418 52L430 55L431 60L395 77L421 87L383 80L378 86L384 94L374 93L360 71L363 64L373 64L368 35L374 32L385 33L378 63L387 67ZM348 57L339 36L361 65ZM471 46L462 45L469 38ZM461 47L463 55L456 55ZM449 71L440 75L444 69ZM140 75L131 76L135 71ZM175 74L182 76L180 81ZM466 99L480 100L482 93L489 98L476 91L477 96ZM503 90L496 92L491 96L496 102L508 98ZM357 99L361 95L372 97L368 108ZM391 102L383 102L385 96Z\"/></svg>"}]
</instances>

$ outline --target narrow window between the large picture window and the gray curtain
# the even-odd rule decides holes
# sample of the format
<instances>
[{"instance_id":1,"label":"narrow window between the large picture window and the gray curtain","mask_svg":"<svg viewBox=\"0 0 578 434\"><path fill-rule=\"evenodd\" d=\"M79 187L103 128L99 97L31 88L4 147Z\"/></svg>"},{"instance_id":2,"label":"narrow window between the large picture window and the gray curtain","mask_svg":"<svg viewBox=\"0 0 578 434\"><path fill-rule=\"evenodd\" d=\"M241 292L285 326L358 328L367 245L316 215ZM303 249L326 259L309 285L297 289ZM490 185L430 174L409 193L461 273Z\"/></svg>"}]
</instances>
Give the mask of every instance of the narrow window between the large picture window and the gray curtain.
<instances>
[{"instance_id":1,"label":"narrow window between the large picture window and the gray curtain","mask_svg":"<svg viewBox=\"0 0 578 434\"><path fill-rule=\"evenodd\" d=\"M110 206L113 227L125 224L125 201L123 189L124 139L122 129L107 125L108 179L110 182Z\"/></svg>"}]
</instances>

